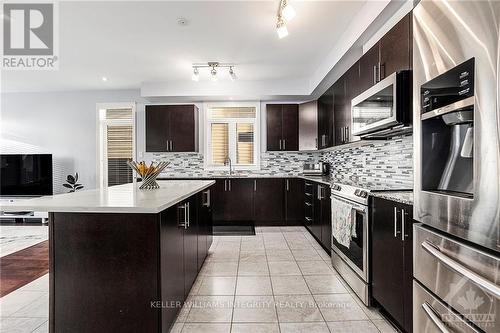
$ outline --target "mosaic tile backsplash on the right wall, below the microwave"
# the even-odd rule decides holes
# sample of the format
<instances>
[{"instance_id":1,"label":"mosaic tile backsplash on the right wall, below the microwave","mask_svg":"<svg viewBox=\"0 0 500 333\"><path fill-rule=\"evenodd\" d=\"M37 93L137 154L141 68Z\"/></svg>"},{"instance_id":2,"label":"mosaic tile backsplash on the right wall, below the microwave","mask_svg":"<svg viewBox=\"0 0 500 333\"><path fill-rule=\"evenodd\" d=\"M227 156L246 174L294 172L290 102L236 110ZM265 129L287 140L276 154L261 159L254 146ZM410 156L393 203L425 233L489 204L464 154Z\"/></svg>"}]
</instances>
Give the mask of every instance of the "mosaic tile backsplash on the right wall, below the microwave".
<instances>
[{"instance_id":1,"label":"mosaic tile backsplash on the right wall, below the microwave","mask_svg":"<svg viewBox=\"0 0 500 333\"><path fill-rule=\"evenodd\" d=\"M373 188L413 188L413 137L370 141L322 153L332 166L333 182L371 184Z\"/></svg>"}]
</instances>

